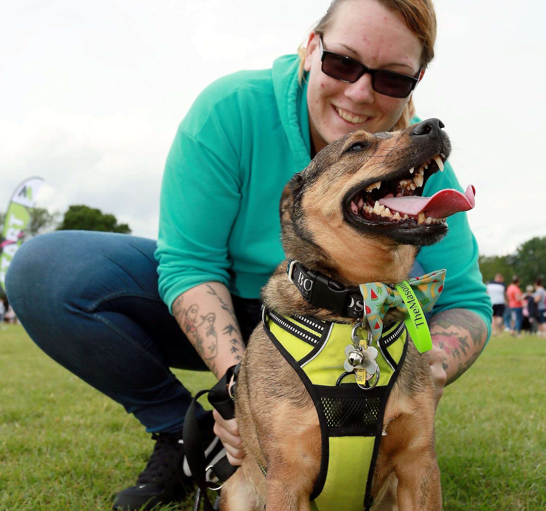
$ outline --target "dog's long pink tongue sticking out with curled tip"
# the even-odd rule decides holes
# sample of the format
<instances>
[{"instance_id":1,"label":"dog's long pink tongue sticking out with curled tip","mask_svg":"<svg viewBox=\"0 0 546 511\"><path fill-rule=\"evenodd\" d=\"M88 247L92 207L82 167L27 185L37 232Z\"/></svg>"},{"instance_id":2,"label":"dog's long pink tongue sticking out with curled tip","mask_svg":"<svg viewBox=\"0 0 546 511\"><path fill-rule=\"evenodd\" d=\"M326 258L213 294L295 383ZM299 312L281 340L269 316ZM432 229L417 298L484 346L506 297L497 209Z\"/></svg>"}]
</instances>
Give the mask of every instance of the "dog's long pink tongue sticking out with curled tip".
<instances>
[{"instance_id":1,"label":"dog's long pink tongue sticking out with curled tip","mask_svg":"<svg viewBox=\"0 0 546 511\"><path fill-rule=\"evenodd\" d=\"M465 193L446 188L436 192L432 197L416 197L415 195L390 197L379 199L379 204L402 214L418 216L423 211L426 216L445 218L459 211L471 210L475 204L474 195L476 190L472 185L468 185Z\"/></svg>"}]
</instances>

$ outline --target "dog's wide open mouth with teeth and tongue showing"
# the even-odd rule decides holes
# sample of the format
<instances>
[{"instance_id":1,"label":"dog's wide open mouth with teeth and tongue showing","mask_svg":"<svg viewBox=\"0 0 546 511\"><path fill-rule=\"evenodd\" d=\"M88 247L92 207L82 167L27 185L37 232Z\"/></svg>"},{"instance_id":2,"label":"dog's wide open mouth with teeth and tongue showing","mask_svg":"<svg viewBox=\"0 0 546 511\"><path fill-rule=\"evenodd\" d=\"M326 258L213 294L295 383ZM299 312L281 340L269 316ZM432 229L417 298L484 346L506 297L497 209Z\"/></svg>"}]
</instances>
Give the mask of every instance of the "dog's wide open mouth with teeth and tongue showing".
<instances>
[{"instance_id":1,"label":"dog's wide open mouth with teeth and tongue showing","mask_svg":"<svg viewBox=\"0 0 546 511\"><path fill-rule=\"evenodd\" d=\"M446 219L474 207L474 187L463 194L444 189L431 197L422 197L429 177L444 170L443 153L396 173L394 177L365 182L353 189L343 201L346 219L358 228L412 230L419 234L442 234Z\"/></svg>"}]
</instances>

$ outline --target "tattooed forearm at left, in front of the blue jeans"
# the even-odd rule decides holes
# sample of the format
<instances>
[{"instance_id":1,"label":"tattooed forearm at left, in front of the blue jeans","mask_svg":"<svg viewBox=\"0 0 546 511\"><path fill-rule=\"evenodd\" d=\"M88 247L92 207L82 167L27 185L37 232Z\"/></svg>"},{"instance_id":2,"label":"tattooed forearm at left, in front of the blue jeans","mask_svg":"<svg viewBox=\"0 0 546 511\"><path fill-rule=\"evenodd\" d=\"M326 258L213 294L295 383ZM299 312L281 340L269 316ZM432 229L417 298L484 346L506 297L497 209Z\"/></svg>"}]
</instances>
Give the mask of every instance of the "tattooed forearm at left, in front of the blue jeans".
<instances>
[{"instance_id":1,"label":"tattooed forearm at left, in front of the blue jeans","mask_svg":"<svg viewBox=\"0 0 546 511\"><path fill-rule=\"evenodd\" d=\"M188 289L173 302L173 314L217 378L241 360L245 345L224 284L206 282Z\"/></svg>"}]
</instances>

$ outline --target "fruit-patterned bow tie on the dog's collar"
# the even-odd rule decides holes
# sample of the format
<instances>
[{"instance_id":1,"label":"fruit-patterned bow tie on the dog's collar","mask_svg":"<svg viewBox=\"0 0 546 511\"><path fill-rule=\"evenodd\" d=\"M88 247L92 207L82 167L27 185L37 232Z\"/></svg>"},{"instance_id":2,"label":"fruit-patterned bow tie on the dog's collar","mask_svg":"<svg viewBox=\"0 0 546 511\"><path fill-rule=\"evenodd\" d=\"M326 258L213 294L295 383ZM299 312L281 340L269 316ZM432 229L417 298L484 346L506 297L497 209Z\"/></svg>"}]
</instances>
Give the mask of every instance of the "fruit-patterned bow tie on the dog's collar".
<instances>
[{"instance_id":1,"label":"fruit-patterned bow tie on the dog's collar","mask_svg":"<svg viewBox=\"0 0 546 511\"><path fill-rule=\"evenodd\" d=\"M443 289L446 270L432 271L422 277L410 278L407 283L421 304L423 312L430 312ZM383 316L391 307L406 310L406 304L397 289L382 282L360 284L360 292L366 304L366 318L374 341L383 331Z\"/></svg>"}]
</instances>

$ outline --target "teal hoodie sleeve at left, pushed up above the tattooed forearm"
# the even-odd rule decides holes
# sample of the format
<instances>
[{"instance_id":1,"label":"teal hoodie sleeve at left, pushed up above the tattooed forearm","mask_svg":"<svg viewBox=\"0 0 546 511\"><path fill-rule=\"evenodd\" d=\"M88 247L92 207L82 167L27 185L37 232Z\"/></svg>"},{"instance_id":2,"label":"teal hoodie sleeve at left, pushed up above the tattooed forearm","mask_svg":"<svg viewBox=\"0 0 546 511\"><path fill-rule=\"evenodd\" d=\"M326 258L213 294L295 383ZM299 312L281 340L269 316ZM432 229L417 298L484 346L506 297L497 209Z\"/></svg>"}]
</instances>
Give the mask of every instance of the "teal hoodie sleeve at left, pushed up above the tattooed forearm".
<instances>
[{"instance_id":1,"label":"teal hoodie sleeve at left, pushed up above the tattooed forearm","mask_svg":"<svg viewBox=\"0 0 546 511\"><path fill-rule=\"evenodd\" d=\"M169 310L177 296L198 284L228 284L228 236L241 198L234 96L222 84L207 87L180 124L167 157L155 257L159 294Z\"/></svg>"}]
</instances>

